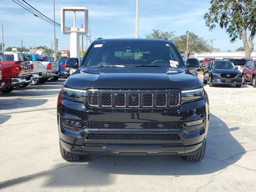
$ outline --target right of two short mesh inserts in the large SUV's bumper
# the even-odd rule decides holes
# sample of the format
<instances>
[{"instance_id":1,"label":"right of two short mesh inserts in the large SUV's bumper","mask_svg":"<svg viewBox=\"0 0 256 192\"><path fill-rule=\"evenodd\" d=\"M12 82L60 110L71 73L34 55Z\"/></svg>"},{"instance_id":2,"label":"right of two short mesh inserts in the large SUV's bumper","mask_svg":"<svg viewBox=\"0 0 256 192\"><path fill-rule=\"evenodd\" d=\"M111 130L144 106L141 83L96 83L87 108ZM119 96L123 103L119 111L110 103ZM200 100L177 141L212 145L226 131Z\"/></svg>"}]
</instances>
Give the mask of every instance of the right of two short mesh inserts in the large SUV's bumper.
<instances>
[{"instance_id":1,"label":"right of two short mesh inserts in the large SUV's bumper","mask_svg":"<svg viewBox=\"0 0 256 192\"><path fill-rule=\"evenodd\" d=\"M182 122L146 122L140 127L142 129L183 129Z\"/></svg>"}]
</instances>

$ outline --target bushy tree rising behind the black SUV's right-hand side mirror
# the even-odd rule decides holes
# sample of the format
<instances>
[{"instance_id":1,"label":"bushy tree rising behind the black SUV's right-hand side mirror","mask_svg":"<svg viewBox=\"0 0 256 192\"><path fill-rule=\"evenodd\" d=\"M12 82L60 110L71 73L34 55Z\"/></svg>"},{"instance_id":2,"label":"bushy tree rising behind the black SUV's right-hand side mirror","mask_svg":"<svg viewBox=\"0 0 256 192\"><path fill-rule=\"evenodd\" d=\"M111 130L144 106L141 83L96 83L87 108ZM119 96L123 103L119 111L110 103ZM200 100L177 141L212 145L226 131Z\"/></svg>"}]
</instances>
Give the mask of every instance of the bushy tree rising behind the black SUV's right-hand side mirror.
<instances>
[{"instance_id":1,"label":"bushy tree rising behind the black SUV's right-hand side mirror","mask_svg":"<svg viewBox=\"0 0 256 192\"><path fill-rule=\"evenodd\" d=\"M187 34L177 36L173 39L173 42L181 54L186 54ZM188 57L191 54L203 52L210 52L210 45L208 42L193 32L188 32Z\"/></svg>"}]
</instances>

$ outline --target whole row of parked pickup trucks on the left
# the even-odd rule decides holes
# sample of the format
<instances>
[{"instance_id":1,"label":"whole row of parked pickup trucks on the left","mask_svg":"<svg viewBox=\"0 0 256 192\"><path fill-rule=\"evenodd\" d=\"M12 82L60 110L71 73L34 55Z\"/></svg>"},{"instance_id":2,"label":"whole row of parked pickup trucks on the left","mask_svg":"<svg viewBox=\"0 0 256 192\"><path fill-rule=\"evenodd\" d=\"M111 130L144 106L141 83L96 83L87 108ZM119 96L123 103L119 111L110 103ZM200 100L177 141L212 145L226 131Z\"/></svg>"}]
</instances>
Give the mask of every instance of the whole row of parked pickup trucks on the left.
<instances>
[{"instance_id":1,"label":"whole row of parked pickup trucks on the left","mask_svg":"<svg viewBox=\"0 0 256 192\"><path fill-rule=\"evenodd\" d=\"M68 77L65 64L59 67L52 57L18 52L0 52L0 91L11 92L14 87L26 87Z\"/></svg>"}]
</instances>

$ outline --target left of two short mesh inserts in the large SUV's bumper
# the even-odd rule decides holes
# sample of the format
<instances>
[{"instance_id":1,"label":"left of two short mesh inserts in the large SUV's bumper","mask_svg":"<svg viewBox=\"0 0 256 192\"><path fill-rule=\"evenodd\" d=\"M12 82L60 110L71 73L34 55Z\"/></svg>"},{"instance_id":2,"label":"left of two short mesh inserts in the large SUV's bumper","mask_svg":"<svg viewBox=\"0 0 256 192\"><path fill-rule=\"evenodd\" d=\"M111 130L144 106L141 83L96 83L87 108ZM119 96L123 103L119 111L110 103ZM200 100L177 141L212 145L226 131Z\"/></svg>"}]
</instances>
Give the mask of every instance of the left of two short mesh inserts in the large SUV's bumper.
<instances>
[{"instance_id":1,"label":"left of two short mesh inserts in the large SUV's bumper","mask_svg":"<svg viewBox=\"0 0 256 192\"><path fill-rule=\"evenodd\" d=\"M85 122L87 129L124 129L127 125L123 122Z\"/></svg>"}]
</instances>

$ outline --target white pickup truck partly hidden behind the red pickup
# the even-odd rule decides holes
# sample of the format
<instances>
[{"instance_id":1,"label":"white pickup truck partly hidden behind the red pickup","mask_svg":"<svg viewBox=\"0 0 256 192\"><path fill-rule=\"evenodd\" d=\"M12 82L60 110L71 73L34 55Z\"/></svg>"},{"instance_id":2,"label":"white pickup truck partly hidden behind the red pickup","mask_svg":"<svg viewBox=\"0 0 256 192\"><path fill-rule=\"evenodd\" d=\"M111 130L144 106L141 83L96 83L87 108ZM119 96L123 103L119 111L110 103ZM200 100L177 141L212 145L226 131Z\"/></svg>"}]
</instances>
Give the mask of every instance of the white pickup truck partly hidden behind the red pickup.
<instances>
[{"instance_id":1,"label":"white pickup truck partly hidden behind the red pickup","mask_svg":"<svg viewBox=\"0 0 256 192\"><path fill-rule=\"evenodd\" d=\"M42 63L40 60L33 60L32 54L24 54L20 52L4 52L7 61L29 61L30 71L32 75L32 81L30 85L38 84L40 78L42 78Z\"/></svg>"}]
</instances>

